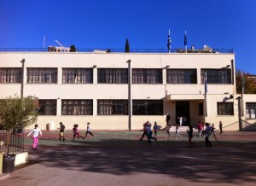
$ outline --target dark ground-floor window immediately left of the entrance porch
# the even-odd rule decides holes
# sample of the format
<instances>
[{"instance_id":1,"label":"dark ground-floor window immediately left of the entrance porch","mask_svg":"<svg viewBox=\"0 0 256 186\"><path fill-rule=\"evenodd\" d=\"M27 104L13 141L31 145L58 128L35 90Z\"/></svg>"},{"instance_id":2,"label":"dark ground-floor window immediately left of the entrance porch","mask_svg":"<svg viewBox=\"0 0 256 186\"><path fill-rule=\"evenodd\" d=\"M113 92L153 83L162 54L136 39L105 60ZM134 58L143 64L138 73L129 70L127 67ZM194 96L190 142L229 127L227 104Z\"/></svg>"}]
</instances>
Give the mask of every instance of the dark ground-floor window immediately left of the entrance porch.
<instances>
[{"instance_id":1,"label":"dark ground-floor window immediately left of the entrance porch","mask_svg":"<svg viewBox=\"0 0 256 186\"><path fill-rule=\"evenodd\" d=\"M133 100L133 115L163 115L162 100Z\"/></svg>"}]
</instances>

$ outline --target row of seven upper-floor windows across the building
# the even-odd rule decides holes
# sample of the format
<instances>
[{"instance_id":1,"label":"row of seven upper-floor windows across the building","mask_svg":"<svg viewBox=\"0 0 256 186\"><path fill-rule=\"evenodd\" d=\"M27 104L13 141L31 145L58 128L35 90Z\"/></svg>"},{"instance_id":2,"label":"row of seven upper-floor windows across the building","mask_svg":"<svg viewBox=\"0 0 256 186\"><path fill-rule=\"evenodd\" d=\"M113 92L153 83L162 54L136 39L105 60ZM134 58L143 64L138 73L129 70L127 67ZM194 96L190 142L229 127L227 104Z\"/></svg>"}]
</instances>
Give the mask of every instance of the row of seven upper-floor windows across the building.
<instances>
[{"instance_id":1,"label":"row of seven upper-floor windows across the building","mask_svg":"<svg viewBox=\"0 0 256 186\"><path fill-rule=\"evenodd\" d=\"M201 84L231 84L230 69L201 69ZM26 68L27 83L57 83L57 68ZM167 84L197 84L196 69L167 69ZM132 69L133 84L162 84L162 69ZM21 83L21 68L0 68L0 83ZM63 84L92 84L92 68L62 68ZM127 68L98 68L98 84L128 84Z\"/></svg>"}]
</instances>

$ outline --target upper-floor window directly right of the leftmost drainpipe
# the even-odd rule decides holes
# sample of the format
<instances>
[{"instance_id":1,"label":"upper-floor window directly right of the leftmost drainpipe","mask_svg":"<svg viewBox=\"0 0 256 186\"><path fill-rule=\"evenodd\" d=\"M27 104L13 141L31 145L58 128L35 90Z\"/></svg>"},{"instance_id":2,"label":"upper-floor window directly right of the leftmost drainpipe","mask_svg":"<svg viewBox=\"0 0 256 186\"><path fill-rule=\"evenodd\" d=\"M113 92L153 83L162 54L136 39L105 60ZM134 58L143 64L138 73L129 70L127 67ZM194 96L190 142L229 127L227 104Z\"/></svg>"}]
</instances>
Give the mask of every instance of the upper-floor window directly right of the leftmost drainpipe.
<instances>
[{"instance_id":1,"label":"upper-floor window directly right of the leftmost drainpipe","mask_svg":"<svg viewBox=\"0 0 256 186\"><path fill-rule=\"evenodd\" d=\"M32 84L56 84L57 68L27 68L26 82Z\"/></svg>"}]
</instances>

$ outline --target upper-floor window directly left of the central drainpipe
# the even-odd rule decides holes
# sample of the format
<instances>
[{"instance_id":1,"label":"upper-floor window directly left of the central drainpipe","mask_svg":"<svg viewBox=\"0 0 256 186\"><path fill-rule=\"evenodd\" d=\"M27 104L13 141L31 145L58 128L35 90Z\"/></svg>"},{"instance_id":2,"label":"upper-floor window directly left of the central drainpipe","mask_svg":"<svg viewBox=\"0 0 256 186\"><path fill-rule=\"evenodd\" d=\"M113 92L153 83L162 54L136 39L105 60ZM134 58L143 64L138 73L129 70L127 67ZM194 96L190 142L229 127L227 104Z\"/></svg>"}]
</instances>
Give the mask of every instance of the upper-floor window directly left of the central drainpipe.
<instances>
[{"instance_id":1,"label":"upper-floor window directly left of the central drainpipe","mask_svg":"<svg viewBox=\"0 0 256 186\"><path fill-rule=\"evenodd\" d=\"M127 84L128 69L98 68L98 84Z\"/></svg>"}]
</instances>

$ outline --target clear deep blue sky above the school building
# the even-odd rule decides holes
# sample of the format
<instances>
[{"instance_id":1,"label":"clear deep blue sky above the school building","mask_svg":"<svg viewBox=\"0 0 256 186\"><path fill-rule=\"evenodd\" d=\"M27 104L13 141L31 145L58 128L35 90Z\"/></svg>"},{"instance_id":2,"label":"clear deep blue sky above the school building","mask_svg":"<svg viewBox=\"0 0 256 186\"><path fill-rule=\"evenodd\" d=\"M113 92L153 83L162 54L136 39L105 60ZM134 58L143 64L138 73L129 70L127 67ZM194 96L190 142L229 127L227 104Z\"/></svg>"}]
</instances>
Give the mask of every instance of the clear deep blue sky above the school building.
<instances>
[{"instance_id":1,"label":"clear deep blue sky above the school building","mask_svg":"<svg viewBox=\"0 0 256 186\"><path fill-rule=\"evenodd\" d=\"M256 0L0 0L0 48L234 49L256 74Z\"/></svg>"}]
</instances>

